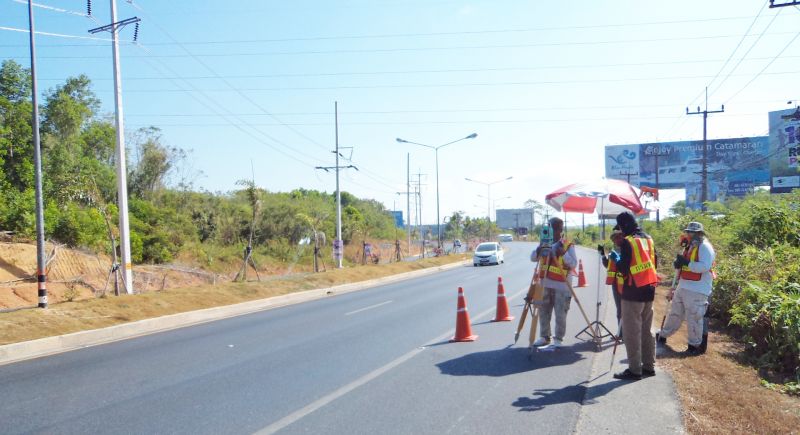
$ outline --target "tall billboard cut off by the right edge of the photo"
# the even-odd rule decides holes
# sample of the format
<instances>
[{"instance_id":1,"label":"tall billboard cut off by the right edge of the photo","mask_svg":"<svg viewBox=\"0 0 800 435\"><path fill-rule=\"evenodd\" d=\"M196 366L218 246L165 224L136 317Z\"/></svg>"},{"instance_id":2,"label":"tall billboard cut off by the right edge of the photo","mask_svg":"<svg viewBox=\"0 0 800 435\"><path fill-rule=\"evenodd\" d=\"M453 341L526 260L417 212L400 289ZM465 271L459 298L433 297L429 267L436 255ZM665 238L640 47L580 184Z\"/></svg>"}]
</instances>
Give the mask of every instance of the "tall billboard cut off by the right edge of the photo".
<instances>
[{"instance_id":1,"label":"tall billboard cut off by the right edge of the photo","mask_svg":"<svg viewBox=\"0 0 800 435\"><path fill-rule=\"evenodd\" d=\"M769 112L770 192L800 188L800 109Z\"/></svg>"}]
</instances>

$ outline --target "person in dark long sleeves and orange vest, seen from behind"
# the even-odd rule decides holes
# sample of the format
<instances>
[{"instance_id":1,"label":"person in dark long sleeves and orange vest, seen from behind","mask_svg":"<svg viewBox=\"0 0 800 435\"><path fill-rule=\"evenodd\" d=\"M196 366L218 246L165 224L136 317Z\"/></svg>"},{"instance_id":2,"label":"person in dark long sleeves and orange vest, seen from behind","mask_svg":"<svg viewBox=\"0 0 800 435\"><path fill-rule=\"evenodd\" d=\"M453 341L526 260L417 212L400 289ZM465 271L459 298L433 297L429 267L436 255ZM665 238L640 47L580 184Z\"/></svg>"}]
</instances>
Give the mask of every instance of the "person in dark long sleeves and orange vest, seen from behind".
<instances>
[{"instance_id":1,"label":"person in dark long sleeves and orange vest, seen from behind","mask_svg":"<svg viewBox=\"0 0 800 435\"><path fill-rule=\"evenodd\" d=\"M639 228L630 212L617 215L617 225L625 238L617 270L624 276L622 285L622 332L628 353L628 368L614 378L638 380L655 376L656 344L650 327L656 294L656 252L653 239Z\"/></svg>"}]
</instances>

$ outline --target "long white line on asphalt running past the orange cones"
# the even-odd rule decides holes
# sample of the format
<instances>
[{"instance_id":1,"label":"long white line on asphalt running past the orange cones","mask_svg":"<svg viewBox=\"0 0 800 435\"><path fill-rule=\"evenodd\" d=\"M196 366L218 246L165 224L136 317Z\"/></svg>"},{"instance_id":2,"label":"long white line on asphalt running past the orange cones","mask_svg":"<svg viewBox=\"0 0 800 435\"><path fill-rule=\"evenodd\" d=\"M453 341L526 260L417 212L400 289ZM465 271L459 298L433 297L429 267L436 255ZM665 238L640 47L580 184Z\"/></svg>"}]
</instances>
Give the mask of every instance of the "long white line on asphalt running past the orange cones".
<instances>
[{"instance_id":1,"label":"long white line on asphalt running past the orange cones","mask_svg":"<svg viewBox=\"0 0 800 435\"><path fill-rule=\"evenodd\" d=\"M515 298L517 296L520 296L522 293L526 293L527 291L528 291L528 288L525 287L522 290L520 290L519 292L514 293L510 297L511 298ZM391 301L389 301L389 302L391 302ZM381 305L381 304L379 304L379 305ZM371 308L371 307L367 307L367 308ZM492 314L494 312L495 308L496 307L492 307L492 308L489 308L486 311L483 311L483 312L479 313L477 316L474 317L474 319L480 319L480 318L483 318L483 317L486 317L486 316ZM455 334L455 328L445 332L444 334L442 334L442 335L440 335L440 336L438 336L438 337L436 337L436 338L434 338L432 340L429 340L428 343L441 342L442 340L449 339L450 337L453 336L453 334ZM331 392L330 394L325 395L325 396L323 396L323 397L321 397L321 398L309 403L308 405L298 409L297 411L287 415L286 417L283 417L282 419L270 424L269 426L267 426L267 427L255 432L255 434L256 435L266 435L266 434L273 434L275 432L278 432L279 430L285 428L286 426L289 426L290 424L302 419L306 415L311 414L312 412L322 408L323 406L333 402L334 400L344 396L345 394L355 390L356 388L366 384L367 382L369 382L369 381L371 381L373 379L378 378L379 376L381 376L382 374L388 372L389 370L391 370L391 369L399 366L400 364L410 360L411 358L415 357L417 354L419 354L420 352L422 352L426 348L427 348L427 346L421 346L421 347L418 347L416 349L412 349L410 352L406 353L405 355L400 356L399 358L395 359L394 361L389 362L388 364L384 365L383 367L379 367L379 368L367 373L366 375L356 379L355 381L340 387L339 389Z\"/></svg>"}]
</instances>

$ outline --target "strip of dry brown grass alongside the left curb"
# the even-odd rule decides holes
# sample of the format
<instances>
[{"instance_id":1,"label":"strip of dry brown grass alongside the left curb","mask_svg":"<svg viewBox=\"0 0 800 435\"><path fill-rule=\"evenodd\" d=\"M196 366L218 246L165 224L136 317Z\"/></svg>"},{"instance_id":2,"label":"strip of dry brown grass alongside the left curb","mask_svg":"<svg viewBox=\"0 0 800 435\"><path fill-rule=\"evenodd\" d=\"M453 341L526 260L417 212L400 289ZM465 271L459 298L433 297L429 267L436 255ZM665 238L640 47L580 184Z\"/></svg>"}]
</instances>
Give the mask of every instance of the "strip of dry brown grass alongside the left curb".
<instances>
[{"instance_id":1,"label":"strip of dry brown grass alongside the left curb","mask_svg":"<svg viewBox=\"0 0 800 435\"><path fill-rule=\"evenodd\" d=\"M197 285L138 295L108 296L0 314L0 345L103 328L168 314L230 305L287 293L364 281L463 261L463 254L415 262L329 269L262 278L261 282ZM255 277L251 277L255 278Z\"/></svg>"}]
</instances>

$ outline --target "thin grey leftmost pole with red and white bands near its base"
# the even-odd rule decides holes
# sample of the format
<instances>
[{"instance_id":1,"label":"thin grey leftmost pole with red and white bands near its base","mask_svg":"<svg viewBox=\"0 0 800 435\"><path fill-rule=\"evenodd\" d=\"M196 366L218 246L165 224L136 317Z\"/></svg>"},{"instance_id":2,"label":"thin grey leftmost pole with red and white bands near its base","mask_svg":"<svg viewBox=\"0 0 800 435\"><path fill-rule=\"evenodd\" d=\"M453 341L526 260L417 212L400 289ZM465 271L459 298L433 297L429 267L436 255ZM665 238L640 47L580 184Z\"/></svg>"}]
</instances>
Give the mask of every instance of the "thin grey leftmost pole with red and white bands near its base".
<instances>
[{"instance_id":1,"label":"thin grey leftmost pole with red and white bands near its base","mask_svg":"<svg viewBox=\"0 0 800 435\"><path fill-rule=\"evenodd\" d=\"M39 308L47 308L47 255L44 251L44 201L42 199L42 150L39 138L39 96L36 87L36 41L33 30L33 1L28 0L28 26L31 45L31 98L33 103L33 164L36 176L36 282Z\"/></svg>"}]
</instances>

